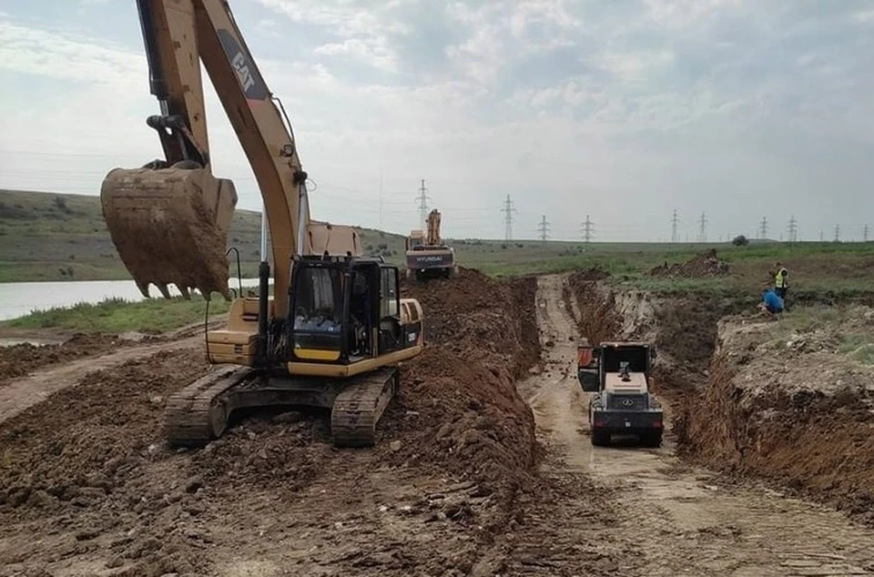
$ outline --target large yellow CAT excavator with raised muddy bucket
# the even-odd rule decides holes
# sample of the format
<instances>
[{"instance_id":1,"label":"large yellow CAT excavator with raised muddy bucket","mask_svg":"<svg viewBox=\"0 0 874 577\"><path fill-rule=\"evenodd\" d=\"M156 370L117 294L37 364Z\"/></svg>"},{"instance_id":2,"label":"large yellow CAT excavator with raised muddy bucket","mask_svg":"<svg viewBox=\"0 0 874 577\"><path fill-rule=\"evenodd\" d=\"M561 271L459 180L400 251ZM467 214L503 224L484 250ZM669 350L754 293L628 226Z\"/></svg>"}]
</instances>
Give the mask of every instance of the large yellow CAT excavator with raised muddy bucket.
<instances>
[{"instance_id":1,"label":"large yellow CAT excavator with raised muddy bucket","mask_svg":"<svg viewBox=\"0 0 874 577\"><path fill-rule=\"evenodd\" d=\"M110 236L137 287L165 298L197 289L232 301L227 327L207 330L203 378L168 398L170 444L217 439L234 410L330 410L336 446L367 446L399 385L398 367L422 351L422 307L401 299L399 271L361 256L351 227L310 220L307 173L293 130L240 34L227 0L137 0L148 116L164 159L107 173L100 196ZM265 207L273 296L262 232L258 296L232 298L226 243L237 193L212 174L200 62L249 159Z\"/></svg>"}]
</instances>

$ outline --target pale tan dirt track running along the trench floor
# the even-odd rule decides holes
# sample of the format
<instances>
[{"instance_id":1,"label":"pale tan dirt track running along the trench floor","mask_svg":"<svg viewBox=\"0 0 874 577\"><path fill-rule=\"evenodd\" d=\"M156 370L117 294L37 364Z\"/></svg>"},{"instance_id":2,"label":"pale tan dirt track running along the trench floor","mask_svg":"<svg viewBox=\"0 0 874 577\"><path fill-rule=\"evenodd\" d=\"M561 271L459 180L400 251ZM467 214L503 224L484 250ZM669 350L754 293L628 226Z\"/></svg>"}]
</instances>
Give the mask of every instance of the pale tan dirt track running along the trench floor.
<instances>
[{"instance_id":1,"label":"pale tan dirt track running along the trench floor","mask_svg":"<svg viewBox=\"0 0 874 577\"><path fill-rule=\"evenodd\" d=\"M874 575L874 531L818 505L684 467L670 435L659 450L592 447L587 400L572 370L577 329L565 309L563 281L539 279L537 320L544 344L554 344L544 347L544 374L520 390L554 461L615 490L613 539L626 542L634 557L623 573Z\"/></svg>"}]
</instances>

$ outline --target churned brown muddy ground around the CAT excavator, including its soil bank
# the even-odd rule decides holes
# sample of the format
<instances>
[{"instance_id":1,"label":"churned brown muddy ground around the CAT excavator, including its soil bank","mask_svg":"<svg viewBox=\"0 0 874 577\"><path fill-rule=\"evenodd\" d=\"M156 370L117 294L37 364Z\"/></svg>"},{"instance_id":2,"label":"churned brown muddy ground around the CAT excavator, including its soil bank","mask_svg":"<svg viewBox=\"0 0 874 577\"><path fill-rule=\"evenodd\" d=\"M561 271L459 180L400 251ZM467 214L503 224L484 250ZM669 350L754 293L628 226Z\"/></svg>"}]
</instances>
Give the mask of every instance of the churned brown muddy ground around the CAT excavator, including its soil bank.
<instances>
[{"instance_id":1,"label":"churned brown muddy ground around the CAT excavator, including its soil bank","mask_svg":"<svg viewBox=\"0 0 874 577\"><path fill-rule=\"evenodd\" d=\"M199 337L115 362L97 356L97 370L62 382L42 379L46 369L11 383L52 394L0 424L0 575L526 566L513 554L524 540L506 549L498 537L525 526L523 503L537 501L549 519L560 500L548 495L568 491L537 478L543 449L514 386L540 356L536 280L465 270L429 289L409 288L433 319L429 346L403 367L372 450L333 449L327 416L295 411L249 415L202 450L168 450L161 413L206 371ZM604 559L574 563L597 569Z\"/></svg>"}]
</instances>

